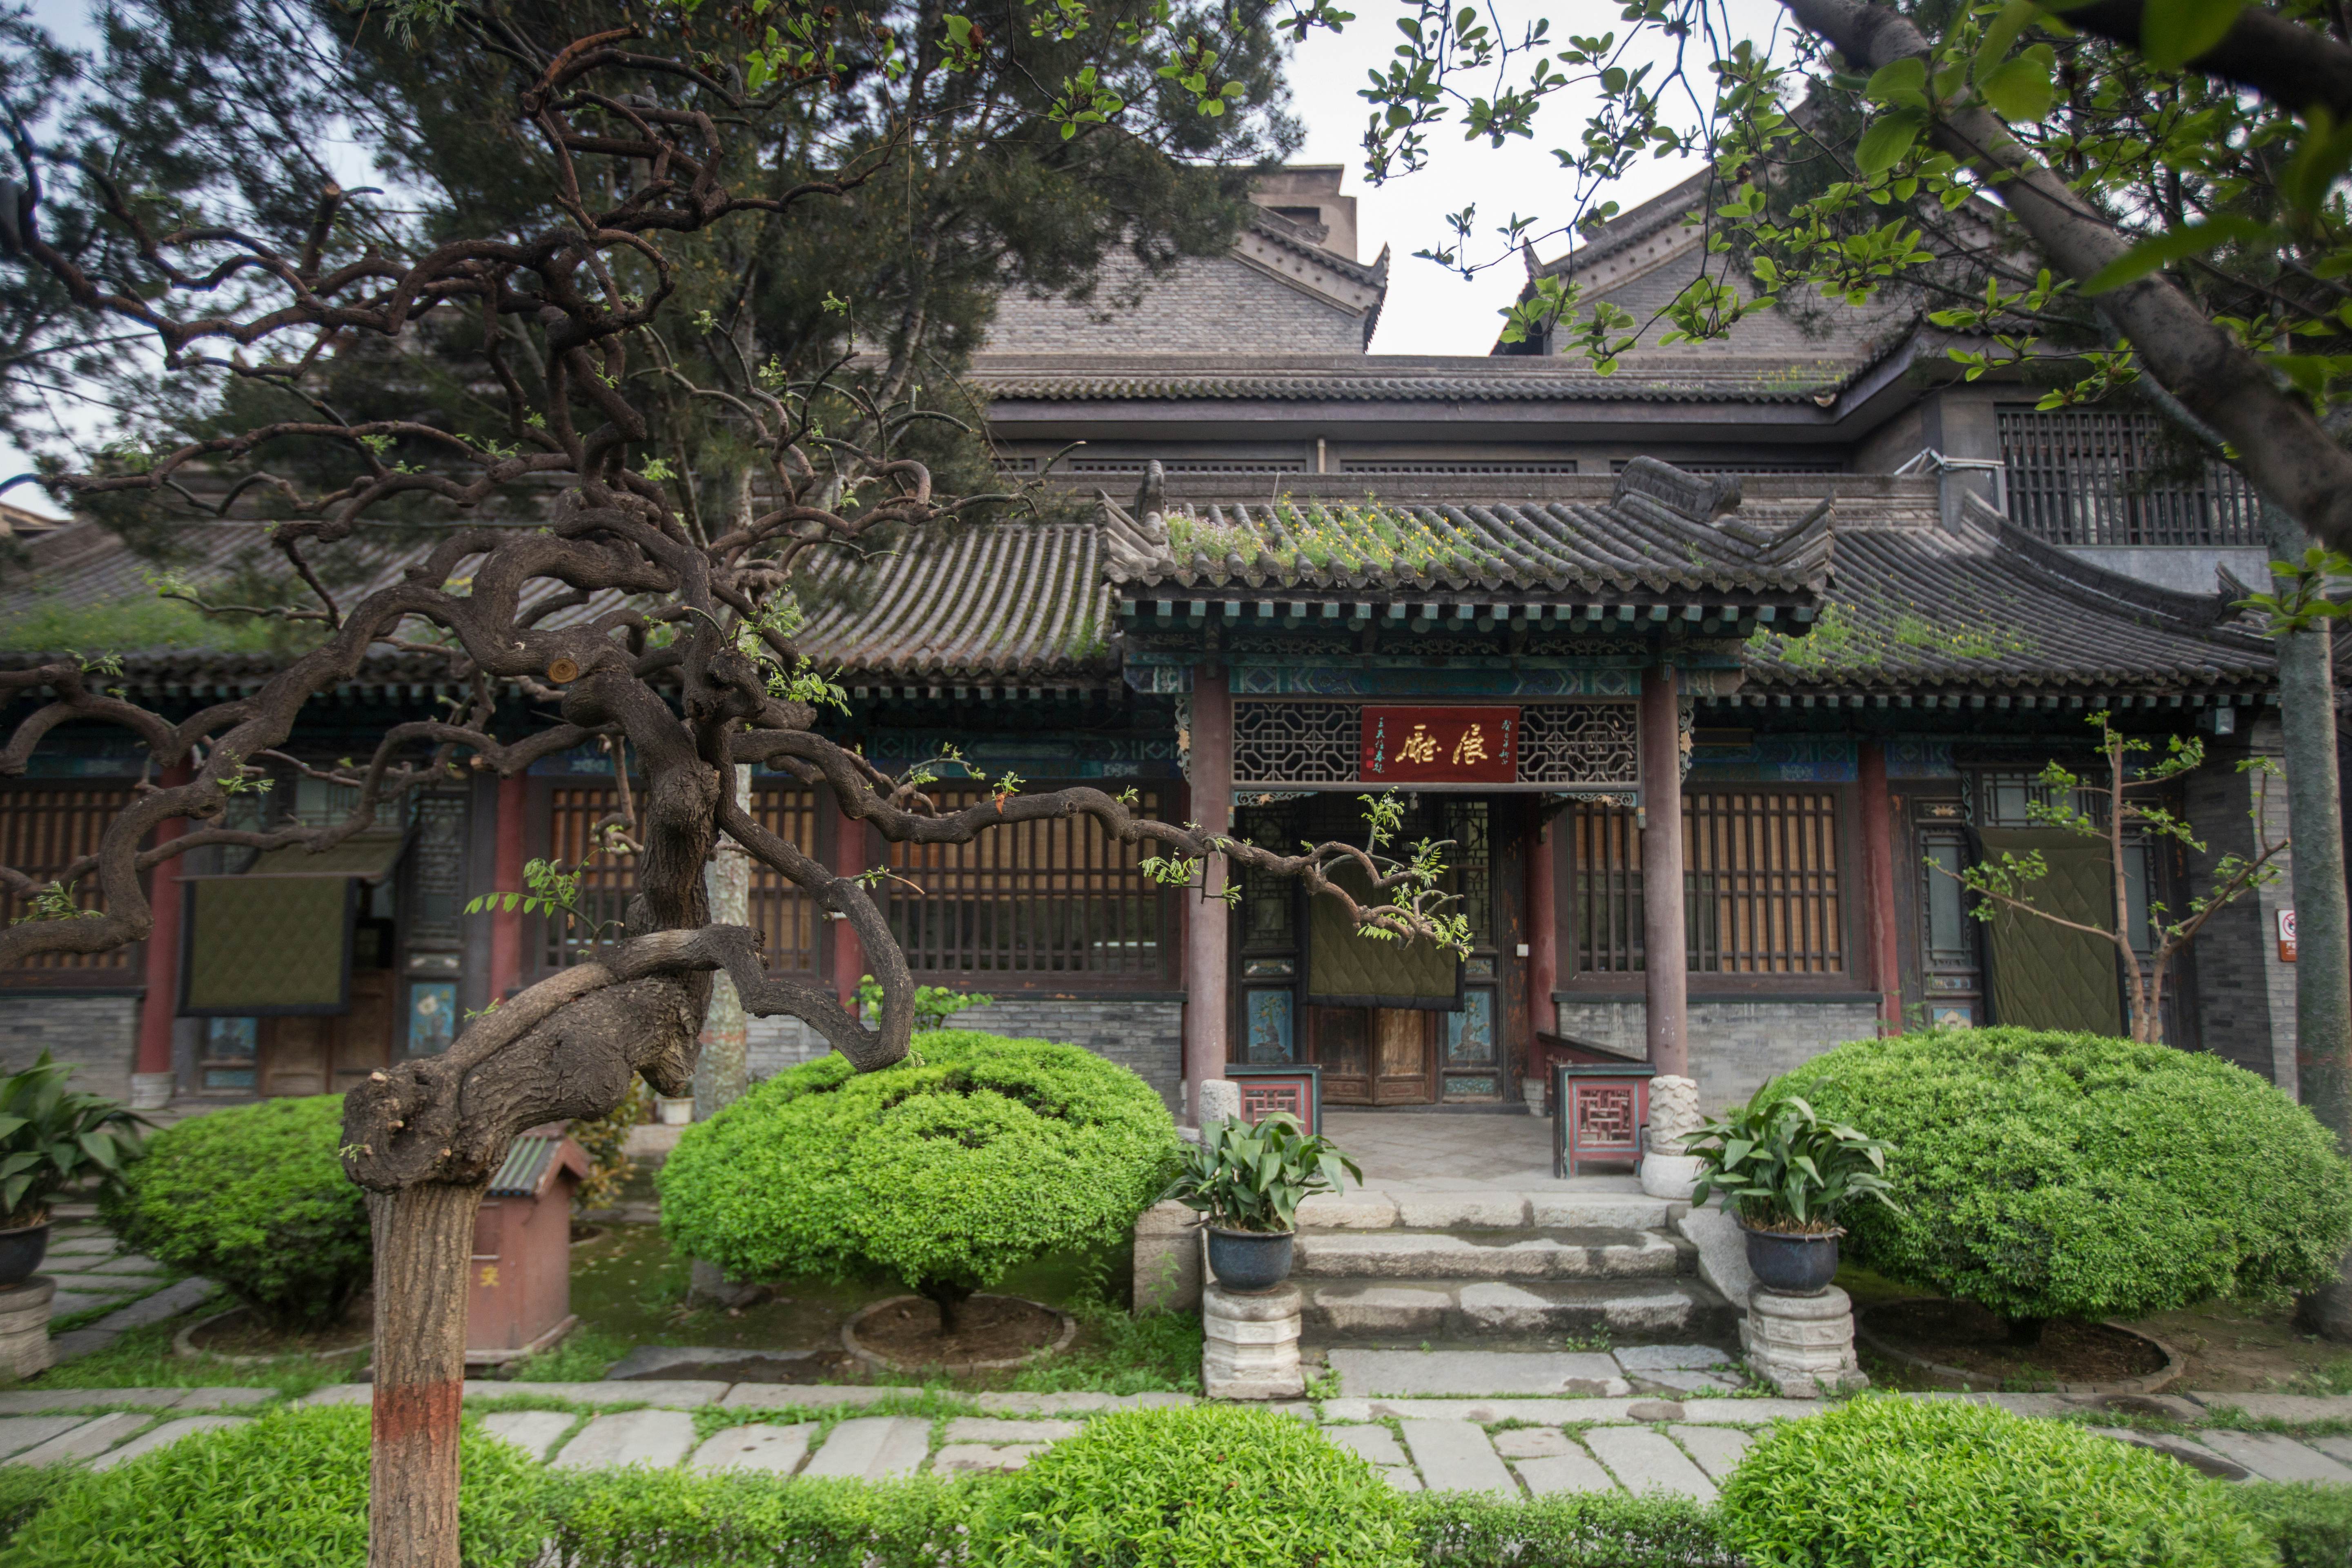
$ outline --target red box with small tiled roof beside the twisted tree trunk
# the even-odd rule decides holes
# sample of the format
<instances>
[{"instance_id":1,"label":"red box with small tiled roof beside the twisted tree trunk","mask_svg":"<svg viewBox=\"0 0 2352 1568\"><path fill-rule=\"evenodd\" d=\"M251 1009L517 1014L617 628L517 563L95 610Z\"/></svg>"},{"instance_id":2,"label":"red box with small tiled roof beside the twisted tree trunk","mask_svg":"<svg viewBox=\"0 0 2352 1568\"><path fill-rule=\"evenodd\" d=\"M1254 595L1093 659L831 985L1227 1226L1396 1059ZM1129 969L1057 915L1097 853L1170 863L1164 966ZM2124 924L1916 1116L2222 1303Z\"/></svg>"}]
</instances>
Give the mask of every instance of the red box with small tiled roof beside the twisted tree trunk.
<instances>
[{"instance_id":1,"label":"red box with small tiled roof beside the twisted tree trunk","mask_svg":"<svg viewBox=\"0 0 2352 1568\"><path fill-rule=\"evenodd\" d=\"M562 1124L515 1138L473 1222L466 1361L496 1366L562 1340L572 1324L572 1190L588 1157Z\"/></svg>"}]
</instances>

